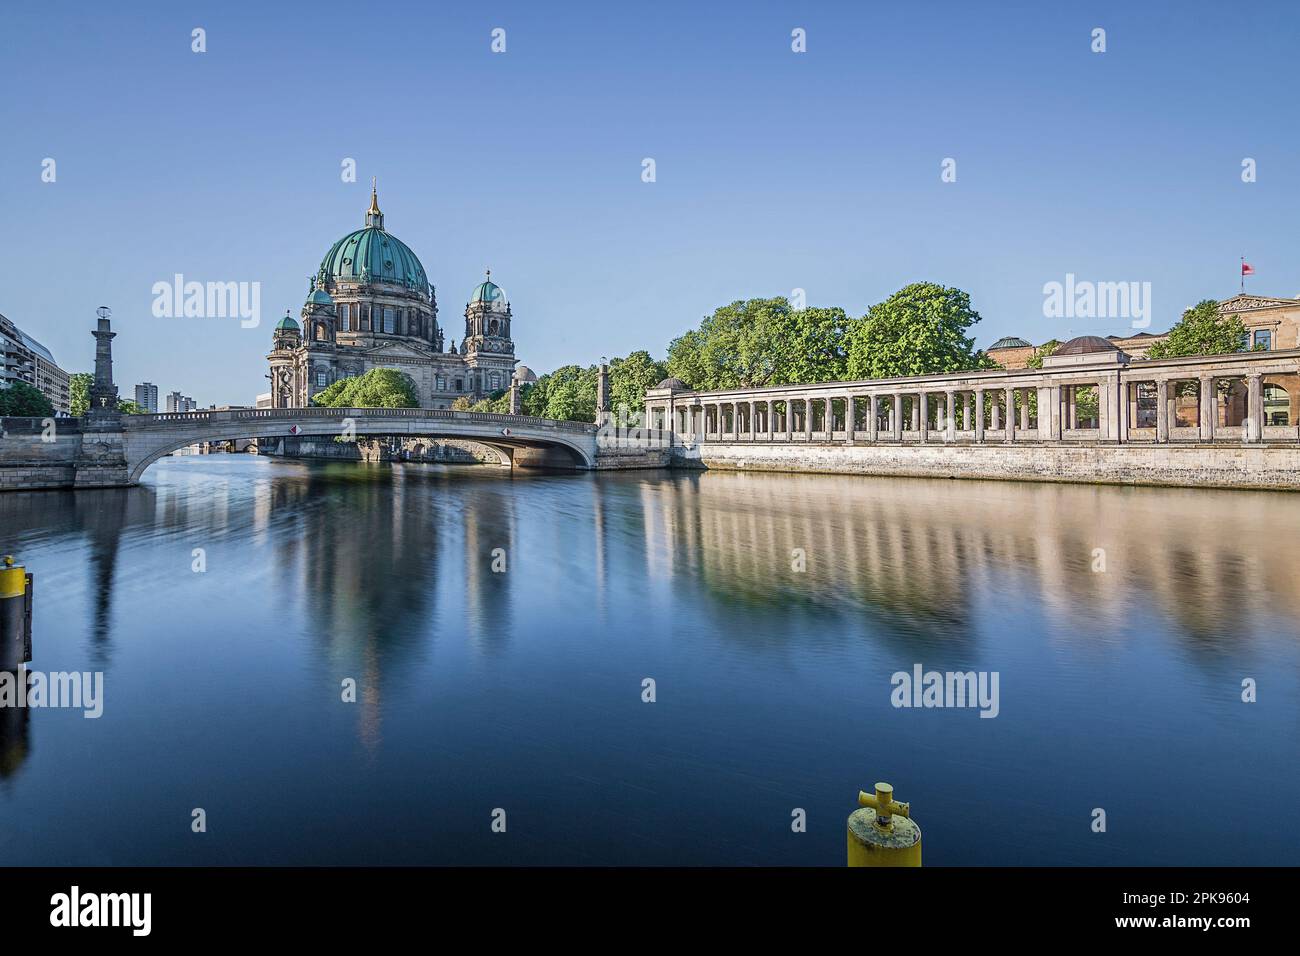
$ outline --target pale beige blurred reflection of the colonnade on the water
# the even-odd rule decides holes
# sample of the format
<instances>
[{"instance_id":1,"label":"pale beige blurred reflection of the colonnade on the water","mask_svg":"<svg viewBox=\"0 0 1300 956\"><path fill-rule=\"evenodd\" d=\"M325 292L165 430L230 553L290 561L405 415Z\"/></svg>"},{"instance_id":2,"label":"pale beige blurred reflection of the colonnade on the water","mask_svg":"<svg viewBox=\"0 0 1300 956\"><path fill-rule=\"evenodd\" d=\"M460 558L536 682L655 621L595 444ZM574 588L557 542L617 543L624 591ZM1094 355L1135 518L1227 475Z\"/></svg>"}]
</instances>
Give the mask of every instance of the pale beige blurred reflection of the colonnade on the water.
<instances>
[{"instance_id":1,"label":"pale beige blurred reflection of the colonnade on the water","mask_svg":"<svg viewBox=\"0 0 1300 956\"><path fill-rule=\"evenodd\" d=\"M646 489L668 572L772 615L966 639L983 600L1082 611L1095 636L1154 606L1197 644L1252 617L1300 619L1300 567L1268 546L1300 532L1300 511L1275 493L724 472Z\"/></svg>"}]
</instances>

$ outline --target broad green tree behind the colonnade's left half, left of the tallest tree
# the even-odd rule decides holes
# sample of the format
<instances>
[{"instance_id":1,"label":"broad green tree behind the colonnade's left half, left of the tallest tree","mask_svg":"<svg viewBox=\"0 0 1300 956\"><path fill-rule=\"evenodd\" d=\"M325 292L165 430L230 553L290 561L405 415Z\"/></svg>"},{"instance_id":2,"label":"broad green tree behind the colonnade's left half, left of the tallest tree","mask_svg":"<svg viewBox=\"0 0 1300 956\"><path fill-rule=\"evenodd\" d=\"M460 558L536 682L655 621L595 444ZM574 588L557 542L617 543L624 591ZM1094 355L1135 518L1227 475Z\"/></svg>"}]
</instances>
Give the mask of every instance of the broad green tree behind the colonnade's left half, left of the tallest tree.
<instances>
[{"instance_id":1,"label":"broad green tree behind the colonnade's left half, left of the tallest tree","mask_svg":"<svg viewBox=\"0 0 1300 956\"><path fill-rule=\"evenodd\" d=\"M667 372L696 389L836 381L854 325L841 308L794 310L784 297L737 300L672 341Z\"/></svg>"}]
</instances>

